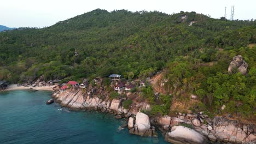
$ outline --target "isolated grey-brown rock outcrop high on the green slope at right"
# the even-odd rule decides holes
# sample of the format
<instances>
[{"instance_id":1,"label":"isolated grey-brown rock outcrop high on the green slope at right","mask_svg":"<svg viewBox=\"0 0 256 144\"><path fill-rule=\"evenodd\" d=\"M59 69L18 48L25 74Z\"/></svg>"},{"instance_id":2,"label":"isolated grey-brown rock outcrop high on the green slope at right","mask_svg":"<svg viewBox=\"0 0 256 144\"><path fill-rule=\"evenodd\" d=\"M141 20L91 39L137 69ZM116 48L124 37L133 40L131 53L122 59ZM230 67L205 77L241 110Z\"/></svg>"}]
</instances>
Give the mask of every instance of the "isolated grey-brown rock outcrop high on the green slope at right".
<instances>
[{"instance_id":1,"label":"isolated grey-brown rock outcrop high on the green slope at right","mask_svg":"<svg viewBox=\"0 0 256 144\"><path fill-rule=\"evenodd\" d=\"M247 73L248 64L245 62L241 55L233 57L229 64L228 71L232 73L233 70L237 69L241 74L245 75Z\"/></svg>"}]
</instances>

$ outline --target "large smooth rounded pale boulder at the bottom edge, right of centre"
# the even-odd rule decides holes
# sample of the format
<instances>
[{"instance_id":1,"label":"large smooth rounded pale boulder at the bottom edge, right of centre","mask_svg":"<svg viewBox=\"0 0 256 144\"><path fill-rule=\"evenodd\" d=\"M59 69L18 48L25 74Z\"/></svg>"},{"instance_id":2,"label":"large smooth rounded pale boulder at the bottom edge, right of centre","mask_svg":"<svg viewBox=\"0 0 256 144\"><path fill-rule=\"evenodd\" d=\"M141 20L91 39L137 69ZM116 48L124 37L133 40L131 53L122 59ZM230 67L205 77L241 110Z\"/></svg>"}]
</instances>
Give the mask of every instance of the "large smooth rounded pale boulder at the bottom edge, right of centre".
<instances>
[{"instance_id":1,"label":"large smooth rounded pale boulder at the bottom edge, right of centre","mask_svg":"<svg viewBox=\"0 0 256 144\"><path fill-rule=\"evenodd\" d=\"M166 133L165 140L171 143L206 143L206 138L197 133L195 130L183 127L181 125L174 126L171 132Z\"/></svg>"}]
</instances>

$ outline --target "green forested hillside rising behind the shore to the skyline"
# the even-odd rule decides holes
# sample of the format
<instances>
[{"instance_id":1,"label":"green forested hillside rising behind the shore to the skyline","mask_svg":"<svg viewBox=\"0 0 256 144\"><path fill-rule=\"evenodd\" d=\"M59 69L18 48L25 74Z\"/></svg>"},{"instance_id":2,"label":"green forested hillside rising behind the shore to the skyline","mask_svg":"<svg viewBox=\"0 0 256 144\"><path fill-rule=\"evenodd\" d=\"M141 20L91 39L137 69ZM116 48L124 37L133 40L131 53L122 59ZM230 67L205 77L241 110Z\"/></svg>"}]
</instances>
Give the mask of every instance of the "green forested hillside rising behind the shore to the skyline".
<instances>
[{"instance_id":1,"label":"green forested hillside rising behind the shore to the skyline","mask_svg":"<svg viewBox=\"0 0 256 144\"><path fill-rule=\"evenodd\" d=\"M183 11L168 15L96 9L50 27L0 33L0 80L21 83L44 75L46 80L79 81L110 74L129 80L163 70L169 80L166 90L178 99L182 93L195 93L202 109L226 104L232 113L253 116L255 43L256 21ZM238 54L249 65L245 76L228 74ZM236 101L242 101L239 111Z\"/></svg>"}]
</instances>

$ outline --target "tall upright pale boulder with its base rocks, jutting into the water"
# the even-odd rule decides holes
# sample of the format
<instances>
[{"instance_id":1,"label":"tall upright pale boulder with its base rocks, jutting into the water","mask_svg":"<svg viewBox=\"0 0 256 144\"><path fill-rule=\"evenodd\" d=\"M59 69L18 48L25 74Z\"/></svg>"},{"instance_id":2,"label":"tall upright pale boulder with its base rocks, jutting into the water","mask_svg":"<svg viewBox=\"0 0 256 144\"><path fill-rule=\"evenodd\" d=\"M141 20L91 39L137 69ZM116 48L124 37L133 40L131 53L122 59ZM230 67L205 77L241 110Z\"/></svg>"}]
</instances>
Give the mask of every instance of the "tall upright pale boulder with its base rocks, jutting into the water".
<instances>
[{"instance_id":1,"label":"tall upright pale boulder with its base rocks, jutting into the water","mask_svg":"<svg viewBox=\"0 0 256 144\"><path fill-rule=\"evenodd\" d=\"M136 115L135 124L132 124L133 118L129 119L129 133L141 136L157 136L155 128L150 125L148 115L138 112ZM131 127L133 125L133 127Z\"/></svg>"}]
</instances>

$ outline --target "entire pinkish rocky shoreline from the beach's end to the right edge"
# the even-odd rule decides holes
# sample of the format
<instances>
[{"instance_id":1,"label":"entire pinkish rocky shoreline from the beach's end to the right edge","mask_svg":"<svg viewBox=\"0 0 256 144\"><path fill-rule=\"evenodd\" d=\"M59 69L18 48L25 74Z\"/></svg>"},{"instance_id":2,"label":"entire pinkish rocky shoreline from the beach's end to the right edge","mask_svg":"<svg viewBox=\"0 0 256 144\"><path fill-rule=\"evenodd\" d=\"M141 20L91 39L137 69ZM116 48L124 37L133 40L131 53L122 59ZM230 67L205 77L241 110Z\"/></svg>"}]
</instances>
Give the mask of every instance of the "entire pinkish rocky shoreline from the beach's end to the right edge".
<instances>
[{"instance_id":1,"label":"entire pinkish rocky shoreline from the beach's end to the right edge","mask_svg":"<svg viewBox=\"0 0 256 144\"><path fill-rule=\"evenodd\" d=\"M209 118L203 112L197 114L177 113L176 117L149 118L139 112L150 107L148 104L133 105L124 109L125 99L109 99L109 92L103 87L68 89L53 94L55 102L73 110L96 110L114 113L116 118L127 118L131 134L157 137L156 127L162 131L165 140L171 143L255 143L256 127L222 117Z\"/></svg>"}]
</instances>

